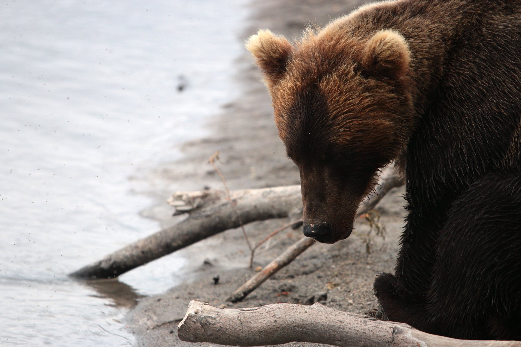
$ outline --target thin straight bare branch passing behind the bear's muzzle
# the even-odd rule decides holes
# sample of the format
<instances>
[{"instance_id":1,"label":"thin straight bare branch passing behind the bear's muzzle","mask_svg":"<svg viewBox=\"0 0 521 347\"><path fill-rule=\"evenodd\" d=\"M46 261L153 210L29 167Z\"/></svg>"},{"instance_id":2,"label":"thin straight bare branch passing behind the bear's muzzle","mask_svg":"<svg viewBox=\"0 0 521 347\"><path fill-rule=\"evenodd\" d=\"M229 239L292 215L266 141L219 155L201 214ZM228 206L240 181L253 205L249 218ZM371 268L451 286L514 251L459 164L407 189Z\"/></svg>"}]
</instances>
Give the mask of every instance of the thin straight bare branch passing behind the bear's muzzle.
<instances>
[{"instance_id":1,"label":"thin straight bare branch passing behind the bear's muzzle","mask_svg":"<svg viewBox=\"0 0 521 347\"><path fill-rule=\"evenodd\" d=\"M362 215L369 212L378 204L381 198L385 196L391 189L403 185L403 179L395 172L392 167L388 167L382 171L379 185L376 188L376 194L368 197L360 203L357 215ZM262 285L264 281L277 273L281 268L291 263L297 256L299 256L306 249L311 247L314 240L308 237L303 237L297 241L293 246L288 248L284 253L266 265L260 272L256 273L239 289L235 290L226 301L238 302L244 299L248 294L254 291L258 286Z\"/></svg>"}]
</instances>

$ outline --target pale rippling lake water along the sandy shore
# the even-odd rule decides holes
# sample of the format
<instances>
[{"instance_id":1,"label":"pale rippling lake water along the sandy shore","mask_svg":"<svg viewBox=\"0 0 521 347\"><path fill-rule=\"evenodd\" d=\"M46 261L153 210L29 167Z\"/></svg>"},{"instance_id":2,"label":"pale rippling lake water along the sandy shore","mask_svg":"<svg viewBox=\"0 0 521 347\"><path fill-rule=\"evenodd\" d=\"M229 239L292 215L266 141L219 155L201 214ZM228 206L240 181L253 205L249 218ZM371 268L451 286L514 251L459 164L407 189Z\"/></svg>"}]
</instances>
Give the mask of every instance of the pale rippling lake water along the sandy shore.
<instances>
[{"instance_id":1,"label":"pale rippling lake water along the sandy shore","mask_svg":"<svg viewBox=\"0 0 521 347\"><path fill-rule=\"evenodd\" d=\"M245 0L0 5L0 345L132 345L121 317L185 260L66 275L159 229L129 177L238 95L245 15Z\"/></svg>"}]
</instances>

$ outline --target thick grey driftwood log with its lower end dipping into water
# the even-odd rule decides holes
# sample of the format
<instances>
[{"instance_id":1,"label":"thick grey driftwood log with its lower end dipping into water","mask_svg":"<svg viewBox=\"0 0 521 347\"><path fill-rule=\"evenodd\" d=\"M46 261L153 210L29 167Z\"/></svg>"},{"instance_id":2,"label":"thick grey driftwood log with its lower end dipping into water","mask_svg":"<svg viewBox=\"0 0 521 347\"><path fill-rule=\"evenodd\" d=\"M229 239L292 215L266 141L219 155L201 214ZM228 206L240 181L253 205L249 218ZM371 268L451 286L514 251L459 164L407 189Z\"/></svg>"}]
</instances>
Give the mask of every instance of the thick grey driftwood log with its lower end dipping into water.
<instances>
[{"instance_id":1,"label":"thick grey driftwood log with its lower end dipping into water","mask_svg":"<svg viewBox=\"0 0 521 347\"><path fill-rule=\"evenodd\" d=\"M233 205L233 208L232 208ZM287 217L302 205L300 186L209 191L187 219L138 240L70 274L82 279L113 278L192 243L254 221ZM238 218L240 216L240 220Z\"/></svg>"}]
</instances>

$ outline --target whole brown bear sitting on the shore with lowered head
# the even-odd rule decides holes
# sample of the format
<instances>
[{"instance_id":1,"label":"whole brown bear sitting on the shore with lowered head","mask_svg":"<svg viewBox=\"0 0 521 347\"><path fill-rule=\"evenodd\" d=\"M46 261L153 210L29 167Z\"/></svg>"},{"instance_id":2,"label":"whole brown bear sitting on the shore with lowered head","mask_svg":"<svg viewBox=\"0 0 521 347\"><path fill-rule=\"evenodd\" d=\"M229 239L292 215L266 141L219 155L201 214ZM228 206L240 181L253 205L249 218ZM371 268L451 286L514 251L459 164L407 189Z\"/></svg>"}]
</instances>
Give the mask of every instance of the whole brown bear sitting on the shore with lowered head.
<instances>
[{"instance_id":1,"label":"whole brown bear sitting on the shore with lowered head","mask_svg":"<svg viewBox=\"0 0 521 347\"><path fill-rule=\"evenodd\" d=\"M247 49L300 169L304 235L348 237L392 161L408 216L389 319L465 339L521 339L521 1L395 0L293 43Z\"/></svg>"}]
</instances>

